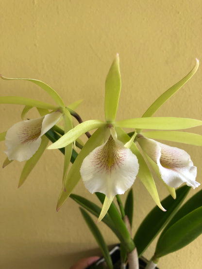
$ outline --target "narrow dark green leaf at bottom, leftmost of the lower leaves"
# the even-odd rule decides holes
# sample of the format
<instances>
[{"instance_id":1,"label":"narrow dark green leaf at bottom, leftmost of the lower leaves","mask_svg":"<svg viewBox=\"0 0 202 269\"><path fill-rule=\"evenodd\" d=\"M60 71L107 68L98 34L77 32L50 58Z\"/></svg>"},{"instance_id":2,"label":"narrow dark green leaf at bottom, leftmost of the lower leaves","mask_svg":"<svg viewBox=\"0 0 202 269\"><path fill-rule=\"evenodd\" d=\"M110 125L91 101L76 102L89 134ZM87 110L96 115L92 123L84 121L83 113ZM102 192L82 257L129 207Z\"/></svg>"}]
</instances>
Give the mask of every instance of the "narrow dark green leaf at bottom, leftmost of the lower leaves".
<instances>
[{"instance_id":1,"label":"narrow dark green leaf at bottom, leftmost of the lower leaves","mask_svg":"<svg viewBox=\"0 0 202 269\"><path fill-rule=\"evenodd\" d=\"M107 245L104 241L104 238L101 235L100 230L98 229L97 225L94 223L94 221L91 219L91 217L88 215L88 213L83 209L80 208L82 215L84 217L85 222L87 223L89 229L91 230L93 236L95 237L101 252L103 253L104 259L107 263L107 266L109 269L113 269L113 264L112 264L112 259L111 256L109 254Z\"/></svg>"}]
</instances>

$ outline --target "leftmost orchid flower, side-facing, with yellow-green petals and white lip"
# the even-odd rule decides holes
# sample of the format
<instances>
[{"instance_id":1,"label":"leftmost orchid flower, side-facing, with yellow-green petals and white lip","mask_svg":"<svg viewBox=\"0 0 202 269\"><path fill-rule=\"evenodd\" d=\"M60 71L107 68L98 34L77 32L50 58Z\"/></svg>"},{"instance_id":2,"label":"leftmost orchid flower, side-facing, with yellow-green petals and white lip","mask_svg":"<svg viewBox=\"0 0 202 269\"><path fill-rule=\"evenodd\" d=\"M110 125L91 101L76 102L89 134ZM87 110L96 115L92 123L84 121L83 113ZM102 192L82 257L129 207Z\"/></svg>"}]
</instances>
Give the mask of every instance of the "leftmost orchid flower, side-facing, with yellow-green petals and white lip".
<instances>
[{"instance_id":1,"label":"leftmost orchid flower, side-facing, with yellow-green petals and white lip","mask_svg":"<svg viewBox=\"0 0 202 269\"><path fill-rule=\"evenodd\" d=\"M1 76L2 79L14 80ZM20 176L19 186L27 178L28 174L34 168L38 159L46 149L49 139L44 137L44 134L50 130L51 127L55 126L57 122L63 116L65 132L73 127L72 118L70 111L75 109L81 101L77 101L67 108L64 105L62 98L47 84L40 80L35 79L22 79L33 82L44 89L57 103L57 106L37 101L30 98L19 97L19 96L1 96L0 103L2 104L20 104L24 105L21 117L24 119L26 113L32 108L37 108L41 117L37 119L24 120L14 124L7 132L0 134L0 141L5 140L7 150L5 153L7 158L3 164L5 167L12 160L24 161L27 160L25 167ZM63 179L66 177L68 165L70 162L72 153L72 144L65 148L65 163Z\"/></svg>"}]
</instances>

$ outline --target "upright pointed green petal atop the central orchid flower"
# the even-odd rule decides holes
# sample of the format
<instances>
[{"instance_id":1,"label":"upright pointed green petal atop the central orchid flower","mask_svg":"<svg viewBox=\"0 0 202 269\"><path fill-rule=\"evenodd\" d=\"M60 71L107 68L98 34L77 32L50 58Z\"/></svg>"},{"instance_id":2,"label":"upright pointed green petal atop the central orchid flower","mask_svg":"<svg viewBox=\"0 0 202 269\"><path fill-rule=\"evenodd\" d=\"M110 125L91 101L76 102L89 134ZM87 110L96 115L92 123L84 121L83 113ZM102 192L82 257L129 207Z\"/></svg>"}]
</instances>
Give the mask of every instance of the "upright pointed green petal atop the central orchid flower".
<instances>
[{"instance_id":1,"label":"upright pointed green petal atop the central orchid flower","mask_svg":"<svg viewBox=\"0 0 202 269\"><path fill-rule=\"evenodd\" d=\"M104 112L106 122L114 122L116 119L120 90L121 79L117 54L105 81Z\"/></svg>"}]
</instances>

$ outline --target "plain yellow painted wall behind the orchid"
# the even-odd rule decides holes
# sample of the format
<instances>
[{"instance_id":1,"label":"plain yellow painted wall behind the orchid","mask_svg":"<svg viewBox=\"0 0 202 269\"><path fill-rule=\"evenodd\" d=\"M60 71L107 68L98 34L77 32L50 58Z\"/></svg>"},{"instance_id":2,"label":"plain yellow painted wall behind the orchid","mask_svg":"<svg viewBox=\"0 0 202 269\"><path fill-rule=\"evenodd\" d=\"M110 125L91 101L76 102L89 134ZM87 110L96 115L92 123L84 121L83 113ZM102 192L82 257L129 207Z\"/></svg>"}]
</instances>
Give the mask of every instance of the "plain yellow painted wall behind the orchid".
<instances>
[{"instance_id":1,"label":"plain yellow painted wall behind the orchid","mask_svg":"<svg viewBox=\"0 0 202 269\"><path fill-rule=\"evenodd\" d=\"M158 95L185 76L196 57L202 62L201 11L201 0L0 0L0 73L45 81L67 105L84 99L78 108L84 120L103 119L104 81L119 52L122 92L117 118L139 117ZM202 66L156 116L202 119L201 89ZM53 103L27 81L0 81L0 95ZM20 121L21 109L0 106L0 132ZM196 131L202 133L202 128ZM202 182L202 149L180 146L198 166L197 180ZM0 150L3 163L3 142ZM67 269L78 258L100 253L73 201L68 199L56 213L62 166L61 153L46 150L20 189L23 163L0 169L0 268ZM164 198L166 190L159 182L157 187ZM133 190L138 225L154 203L139 179ZM92 198L82 182L74 192ZM99 226L108 244L117 242L104 225ZM147 258L154 248L153 243ZM201 252L199 237L163 257L159 267L199 269Z\"/></svg>"}]
</instances>

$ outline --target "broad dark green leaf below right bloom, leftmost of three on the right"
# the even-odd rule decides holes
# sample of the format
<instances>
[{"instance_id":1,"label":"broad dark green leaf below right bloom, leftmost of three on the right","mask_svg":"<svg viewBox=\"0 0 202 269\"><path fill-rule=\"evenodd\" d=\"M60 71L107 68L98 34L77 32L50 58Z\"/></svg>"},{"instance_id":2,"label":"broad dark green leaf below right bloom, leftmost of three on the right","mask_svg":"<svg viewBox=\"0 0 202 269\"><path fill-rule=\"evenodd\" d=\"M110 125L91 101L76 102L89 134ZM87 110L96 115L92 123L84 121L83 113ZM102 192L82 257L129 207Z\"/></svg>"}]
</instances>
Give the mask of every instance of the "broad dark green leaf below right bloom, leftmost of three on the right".
<instances>
[{"instance_id":1,"label":"broad dark green leaf below right bloom, leftmost of three on the right","mask_svg":"<svg viewBox=\"0 0 202 269\"><path fill-rule=\"evenodd\" d=\"M179 188L176 190L176 200L169 195L161 202L162 205L167 208L167 212L163 212L155 206L143 220L134 237L139 256L142 255L166 223L174 216L178 208L183 203L189 190L190 187L187 186Z\"/></svg>"}]
</instances>

